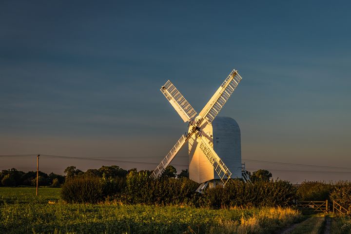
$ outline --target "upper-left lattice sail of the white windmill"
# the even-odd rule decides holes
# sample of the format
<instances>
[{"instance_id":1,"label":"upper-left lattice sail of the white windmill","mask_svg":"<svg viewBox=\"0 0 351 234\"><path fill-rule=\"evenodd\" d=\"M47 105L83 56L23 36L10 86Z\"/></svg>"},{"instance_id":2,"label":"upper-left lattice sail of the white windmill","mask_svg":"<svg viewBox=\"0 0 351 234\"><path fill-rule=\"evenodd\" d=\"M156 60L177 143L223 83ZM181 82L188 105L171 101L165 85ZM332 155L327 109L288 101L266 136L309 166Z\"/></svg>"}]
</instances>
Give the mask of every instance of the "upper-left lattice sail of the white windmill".
<instances>
[{"instance_id":1,"label":"upper-left lattice sail of the white windmill","mask_svg":"<svg viewBox=\"0 0 351 234\"><path fill-rule=\"evenodd\" d=\"M189 104L189 102L176 89L176 86L171 81L167 81L160 89L163 95L168 99L176 112L183 119L184 122L190 121L196 116L196 111Z\"/></svg>"}]
</instances>

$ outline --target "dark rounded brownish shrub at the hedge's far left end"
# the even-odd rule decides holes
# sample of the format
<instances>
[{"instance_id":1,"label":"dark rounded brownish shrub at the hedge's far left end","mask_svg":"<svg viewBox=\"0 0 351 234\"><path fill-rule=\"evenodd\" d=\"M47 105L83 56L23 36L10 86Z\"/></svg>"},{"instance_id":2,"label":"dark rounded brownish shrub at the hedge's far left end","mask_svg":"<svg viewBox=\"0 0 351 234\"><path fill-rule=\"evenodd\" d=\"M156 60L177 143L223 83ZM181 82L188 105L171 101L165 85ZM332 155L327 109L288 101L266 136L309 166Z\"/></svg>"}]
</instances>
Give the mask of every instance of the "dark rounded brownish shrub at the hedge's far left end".
<instances>
[{"instance_id":1,"label":"dark rounded brownish shrub at the hedge's far left end","mask_svg":"<svg viewBox=\"0 0 351 234\"><path fill-rule=\"evenodd\" d=\"M76 176L61 187L61 198L69 203L98 203L122 189L122 179L104 179L93 176Z\"/></svg>"}]
</instances>

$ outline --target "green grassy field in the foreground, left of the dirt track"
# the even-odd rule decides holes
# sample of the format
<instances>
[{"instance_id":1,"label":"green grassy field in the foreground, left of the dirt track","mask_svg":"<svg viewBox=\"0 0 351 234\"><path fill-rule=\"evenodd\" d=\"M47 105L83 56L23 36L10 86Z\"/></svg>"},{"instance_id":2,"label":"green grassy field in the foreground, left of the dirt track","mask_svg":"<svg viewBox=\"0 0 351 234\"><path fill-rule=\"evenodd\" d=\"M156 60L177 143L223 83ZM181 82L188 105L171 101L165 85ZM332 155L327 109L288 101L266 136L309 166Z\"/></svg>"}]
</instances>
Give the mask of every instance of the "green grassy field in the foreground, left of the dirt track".
<instances>
[{"instance_id":1,"label":"green grassy field in the foreground, left of the dirt track","mask_svg":"<svg viewBox=\"0 0 351 234\"><path fill-rule=\"evenodd\" d=\"M273 233L301 219L292 209L66 204L59 189L0 188L0 233Z\"/></svg>"}]
</instances>

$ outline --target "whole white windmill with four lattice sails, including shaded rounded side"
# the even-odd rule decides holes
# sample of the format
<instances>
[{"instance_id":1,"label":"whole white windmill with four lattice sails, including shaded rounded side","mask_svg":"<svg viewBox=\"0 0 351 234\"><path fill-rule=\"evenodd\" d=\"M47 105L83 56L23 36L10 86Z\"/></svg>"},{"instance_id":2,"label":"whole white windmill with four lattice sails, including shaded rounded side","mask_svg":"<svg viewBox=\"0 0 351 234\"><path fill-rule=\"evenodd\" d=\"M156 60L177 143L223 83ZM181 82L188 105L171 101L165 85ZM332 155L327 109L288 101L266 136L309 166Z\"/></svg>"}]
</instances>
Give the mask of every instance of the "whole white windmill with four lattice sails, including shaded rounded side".
<instances>
[{"instance_id":1,"label":"whole white windmill with four lattice sails, including shaded rounded side","mask_svg":"<svg viewBox=\"0 0 351 234\"><path fill-rule=\"evenodd\" d=\"M189 131L187 135L180 137L156 167L152 173L153 177L162 175L187 141L189 142L189 177L201 183L200 190L210 182L225 184L230 178L242 177L239 126L230 117L215 119L240 80L240 75L233 70L198 115L171 81L168 80L162 86L161 92L176 112L184 122L189 121ZM245 179L246 176L243 178Z\"/></svg>"}]
</instances>

